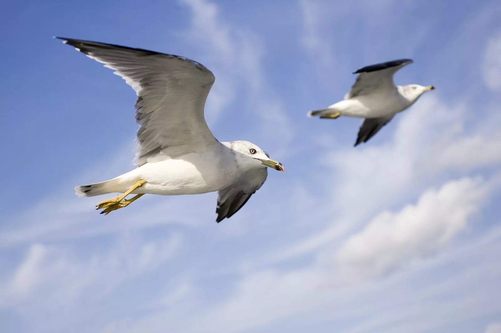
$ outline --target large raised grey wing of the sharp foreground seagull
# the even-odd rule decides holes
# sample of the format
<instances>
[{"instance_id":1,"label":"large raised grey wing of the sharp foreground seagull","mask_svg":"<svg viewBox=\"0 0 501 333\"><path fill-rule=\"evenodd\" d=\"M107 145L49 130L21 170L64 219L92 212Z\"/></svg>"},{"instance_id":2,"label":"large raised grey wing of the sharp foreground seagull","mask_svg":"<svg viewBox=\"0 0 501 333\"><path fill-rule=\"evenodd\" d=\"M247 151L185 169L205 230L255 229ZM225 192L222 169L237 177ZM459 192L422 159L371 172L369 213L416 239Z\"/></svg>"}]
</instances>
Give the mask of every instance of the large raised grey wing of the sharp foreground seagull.
<instances>
[{"instance_id":1,"label":"large raised grey wing of the sharp foreground seagull","mask_svg":"<svg viewBox=\"0 0 501 333\"><path fill-rule=\"evenodd\" d=\"M139 165L152 156L200 151L214 142L203 115L214 75L202 64L141 48L58 38L114 69L136 91Z\"/></svg>"}]
</instances>

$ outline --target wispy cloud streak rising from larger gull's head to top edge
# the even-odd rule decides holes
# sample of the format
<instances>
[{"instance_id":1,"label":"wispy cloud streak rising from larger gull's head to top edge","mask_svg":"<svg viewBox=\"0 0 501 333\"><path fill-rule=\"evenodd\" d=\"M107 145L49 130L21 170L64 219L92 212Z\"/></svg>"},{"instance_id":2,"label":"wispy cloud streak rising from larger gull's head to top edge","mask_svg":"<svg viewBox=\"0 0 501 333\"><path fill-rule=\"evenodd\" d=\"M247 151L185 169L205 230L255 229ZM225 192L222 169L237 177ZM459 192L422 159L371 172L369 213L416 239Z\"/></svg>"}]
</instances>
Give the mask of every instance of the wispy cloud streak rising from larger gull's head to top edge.
<instances>
[{"instance_id":1,"label":"wispy cloud streak rising from larger gull's head to top edge","mask_svg":"<svg viewBox=\"0 0 501 333\"><path fill-rule=\"evenodd\" d=\"M281 137L282 146L266 149L280 149L285 153L284 144L291 141L293 125L289 121L283 102L273 95L266 80L263 56L266 54L263 40L254 32L242 29L220 17L219 7L206 0L181 0L191 12L191 26L186 35L196 45L203 45L213 65L216 82L209 94L207 105L211 105L214 94L215 104L207 116L220 112L235 98L241 88L239 100L233 100L237 109L231 112L252 110L261 121L262 134L274 133ZM207 44L210 45L207 48ZM243 82L243 86L240 82ZM231 99L230 99L231 98ZM246 104L246 106L244 106ZM216 107L218 110L215 110ZM232 138L231 140L240 139Z\"/></svg>"}]
</instances>

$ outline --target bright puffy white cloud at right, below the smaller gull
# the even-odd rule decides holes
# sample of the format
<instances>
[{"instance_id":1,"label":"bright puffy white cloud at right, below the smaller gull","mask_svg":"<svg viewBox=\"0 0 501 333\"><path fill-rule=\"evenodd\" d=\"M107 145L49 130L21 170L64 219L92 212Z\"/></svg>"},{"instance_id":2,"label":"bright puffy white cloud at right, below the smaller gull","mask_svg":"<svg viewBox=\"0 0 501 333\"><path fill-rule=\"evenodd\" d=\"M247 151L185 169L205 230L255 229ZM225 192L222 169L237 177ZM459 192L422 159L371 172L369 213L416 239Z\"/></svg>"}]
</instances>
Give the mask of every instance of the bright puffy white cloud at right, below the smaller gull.
<instances>
[{"instance_id":1,"label":"bright puffy white cloud at right, below the smaller gull","mask_svg":"<svg viewBox=\"0 0 501 333\"><path fill-rule=\"evenodd\" d=\"M336 260L355 276L373 275L435 252L466 227L488 193L489 187L479 178L427 190L415 205L374 217L341 246Z\"/></svg>"}]
</instances>

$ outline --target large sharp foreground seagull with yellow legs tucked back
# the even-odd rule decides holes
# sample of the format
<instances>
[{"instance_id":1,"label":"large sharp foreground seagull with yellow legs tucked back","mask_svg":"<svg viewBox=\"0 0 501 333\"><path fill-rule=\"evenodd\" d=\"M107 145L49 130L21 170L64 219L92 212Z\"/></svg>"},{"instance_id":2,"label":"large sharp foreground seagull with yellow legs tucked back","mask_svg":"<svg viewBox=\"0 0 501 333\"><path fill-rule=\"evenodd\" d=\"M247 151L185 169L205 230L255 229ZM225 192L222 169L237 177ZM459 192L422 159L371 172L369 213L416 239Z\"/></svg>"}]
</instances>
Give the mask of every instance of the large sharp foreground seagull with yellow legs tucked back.
<instances>
[{"instance_id":1,"label":"large sharp foreground seagull with yellow legs tucked back","mask_svg":"<svg viewBox=\"0 0 501 333\"><path fill-rule=\"evenodd\" d=\"M139 167L116 178L75 187L78 196L120 192L96 209L108 214L143 194L199 194L218 191L219 222L240 209L268 175L284 171L256 144L219 142L203 115L214 75L182 56L94 41L62 38L88 57L115 70L136 91ZM129 194L136 194L125 199Z\"/></svg>"}]
</instances>

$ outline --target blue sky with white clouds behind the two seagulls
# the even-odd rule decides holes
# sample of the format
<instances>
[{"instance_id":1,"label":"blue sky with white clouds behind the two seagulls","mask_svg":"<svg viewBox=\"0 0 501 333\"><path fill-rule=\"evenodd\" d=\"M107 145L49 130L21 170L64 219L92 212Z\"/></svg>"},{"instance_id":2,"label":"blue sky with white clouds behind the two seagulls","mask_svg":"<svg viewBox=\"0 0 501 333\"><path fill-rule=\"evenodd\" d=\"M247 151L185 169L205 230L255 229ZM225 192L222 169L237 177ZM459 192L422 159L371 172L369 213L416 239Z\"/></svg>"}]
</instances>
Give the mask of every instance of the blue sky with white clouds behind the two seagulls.
<instances>
[{"instance_id":1,"label":"blue sky with white clouds behind the two seagulls","mask_svg":"<svg viewBox=\"0 0 501 333\"><path fill-rule=\"evenodd\" d=\"M0 21L0 329L501 332L501 2L11 1ZM205 117L285 166L230 219L216 193L100 215L129 171L133 90L52 36L179 54ZM307 118L364 65L433 84L356 148Z\"/></svg>"}]
</instances>

